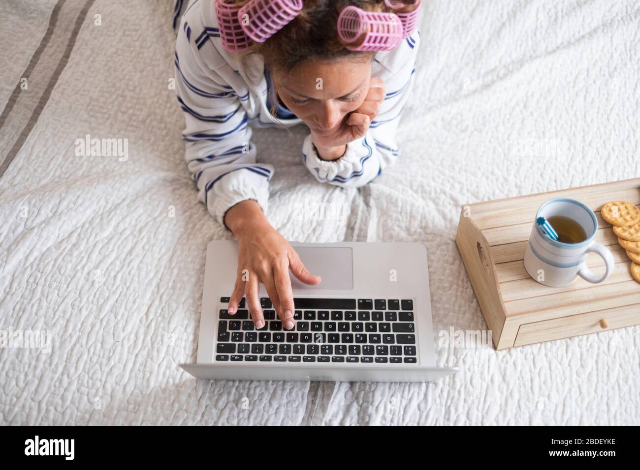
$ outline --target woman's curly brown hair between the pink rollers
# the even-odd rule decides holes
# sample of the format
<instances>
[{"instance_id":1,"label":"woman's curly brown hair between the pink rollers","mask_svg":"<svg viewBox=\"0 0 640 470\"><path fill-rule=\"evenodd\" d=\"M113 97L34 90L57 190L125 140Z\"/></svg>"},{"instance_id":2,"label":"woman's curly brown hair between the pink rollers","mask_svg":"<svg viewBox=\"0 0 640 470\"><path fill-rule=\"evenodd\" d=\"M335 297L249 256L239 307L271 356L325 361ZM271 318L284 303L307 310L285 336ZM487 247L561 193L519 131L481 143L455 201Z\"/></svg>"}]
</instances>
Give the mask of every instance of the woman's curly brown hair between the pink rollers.
<instances>
[{"instance_id":1,"label":"woman's curly brown hair between the pink rollers","mask_svg":"<svg viewBox=\"0 0 640 470\"><path fill-rule=\"evenodd\" d=\"M244 6L250 0L237 0ZM417 0L403 0L411 10ZM227 0L227 3L229 2ZM350 51L340 41L337 20L340 12L354 5L367 12L402 12L389 8L384 0L305 0L304 6L293 20L263 43L240 52L242 56L259 53L269 68L291 71L308 59L371 59L375 52Z\"/></svg>"}]
</instances>

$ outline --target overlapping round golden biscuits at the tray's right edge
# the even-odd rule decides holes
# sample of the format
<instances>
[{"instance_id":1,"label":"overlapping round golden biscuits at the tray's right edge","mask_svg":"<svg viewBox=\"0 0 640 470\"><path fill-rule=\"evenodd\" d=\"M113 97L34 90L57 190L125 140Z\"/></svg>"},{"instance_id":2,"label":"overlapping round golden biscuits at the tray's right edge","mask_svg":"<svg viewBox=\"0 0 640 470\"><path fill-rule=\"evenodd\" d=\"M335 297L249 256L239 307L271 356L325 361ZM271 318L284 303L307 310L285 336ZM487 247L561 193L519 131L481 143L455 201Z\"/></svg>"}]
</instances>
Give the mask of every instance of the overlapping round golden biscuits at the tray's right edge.
<instances>
[{"instance_id":1,"label":"overlapping round golden biscuits at the tray's right edge","mask_svg":"<svg viewBox=\"0 0 640 470\"><path fill-rule=\"evenodd\" d=\"M632 261L631 275L640 283L640 209L627 201L613 201L602 206L600 214L613 226L618 243Z\"/></svg>"}]
</instances>

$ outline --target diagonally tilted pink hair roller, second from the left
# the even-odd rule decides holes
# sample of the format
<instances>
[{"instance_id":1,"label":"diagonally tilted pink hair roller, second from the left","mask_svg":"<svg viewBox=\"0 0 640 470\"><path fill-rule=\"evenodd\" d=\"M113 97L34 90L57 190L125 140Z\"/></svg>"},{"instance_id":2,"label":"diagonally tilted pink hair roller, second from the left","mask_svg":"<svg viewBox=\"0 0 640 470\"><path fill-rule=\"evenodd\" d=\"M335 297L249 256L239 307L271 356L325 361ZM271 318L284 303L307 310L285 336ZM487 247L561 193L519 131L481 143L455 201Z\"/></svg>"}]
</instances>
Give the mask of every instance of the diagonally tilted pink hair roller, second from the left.
<instances>
[{"instance_id":1,"label":"diagonally tilted pink hair roller, second from the left","mask_svg":"<svg viewBox=\"0 0 640 470\"><path fill-rule=\"evenodd\" d=\"M302 6L302 0L251 0L240 9L238 19L247 36L265 42L298 16Z\"/></svg>"}]
</instances>

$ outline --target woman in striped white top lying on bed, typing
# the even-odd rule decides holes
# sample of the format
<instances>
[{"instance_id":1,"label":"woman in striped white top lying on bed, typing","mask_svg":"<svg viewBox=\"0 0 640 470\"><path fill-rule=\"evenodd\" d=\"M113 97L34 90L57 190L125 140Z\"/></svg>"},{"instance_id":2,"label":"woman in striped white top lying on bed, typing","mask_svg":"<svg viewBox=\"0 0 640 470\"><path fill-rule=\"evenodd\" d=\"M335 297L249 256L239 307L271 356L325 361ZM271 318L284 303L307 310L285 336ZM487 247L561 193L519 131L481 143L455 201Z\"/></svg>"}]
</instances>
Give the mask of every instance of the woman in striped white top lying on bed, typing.
<instances>
[{"instance_id":1,"label":"woman in striped white top lying on bed, typing","mask_svg":"<svg viewBox=\"0 0 640 470\"><path fill-rule=\"evenodd\" d=\"M283 14L289 14L284 27L257 42L247 29L250 14L244 15L244 40L250 46L233 51L230 44L237 38L225 33L224 19L218 24L216 8L221 15L224 8L248 3L192 0L182 15L175 47L177 95L186 118L182 136L198 198L238 240L238 274L228 311L236 312L245 295L255 327L263 327L258 296L263 283L285 329L292 329L289 270L310 285L321 279L308 272L264 215L273 166L257 162L249 124L304 123L310 133L302 147L303 164L319 182L340 187L371 182L399 154L397 126L410 95L420 34L405 27L393 49L360 51L356 43L362 37L353 44L340 38L340 13L356 6L362 12L391 13L385 18L395 24L399 2L274 0L273 8L285 5ZM419 2L404 4L417 15Z\"/></svg>"}]
</instances>

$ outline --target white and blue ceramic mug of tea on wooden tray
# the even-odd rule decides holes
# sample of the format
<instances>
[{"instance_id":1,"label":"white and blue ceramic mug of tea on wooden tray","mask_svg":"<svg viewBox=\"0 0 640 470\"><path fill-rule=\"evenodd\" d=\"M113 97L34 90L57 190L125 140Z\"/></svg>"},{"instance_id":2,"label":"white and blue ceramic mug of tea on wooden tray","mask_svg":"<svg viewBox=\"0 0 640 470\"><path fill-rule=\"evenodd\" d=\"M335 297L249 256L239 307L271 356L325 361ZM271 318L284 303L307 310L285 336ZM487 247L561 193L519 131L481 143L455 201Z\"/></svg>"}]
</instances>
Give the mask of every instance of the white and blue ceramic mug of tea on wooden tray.
<instances>
[{"instance_id":1,"label":"white and blue ceramic mug of tea on wooden tray","mask_svg":"<svg viewBox=\"0 0 640 470\"><path fill-rule=\"evenodd\" d=\"M538 217L549 218L552 215L564 215L579 223L587 239L579 243L563 243L552 240L536 223ZM538 208L533 221L529 243L524 253L524 265L533 279L545 286L566 286L580 276L590 283L601 283L607 279L614 268L611 251L594 241L598 231L598 220L593 210L575 199L557 198L545 202ZM607 267L602 276L589 270L586 260L588 253L598 253Z\"/></svg>"}]
</instances>

